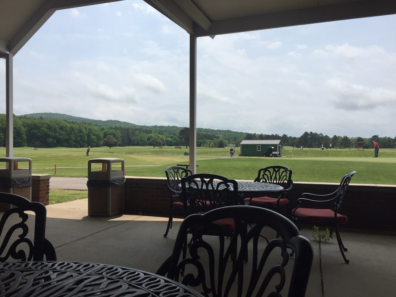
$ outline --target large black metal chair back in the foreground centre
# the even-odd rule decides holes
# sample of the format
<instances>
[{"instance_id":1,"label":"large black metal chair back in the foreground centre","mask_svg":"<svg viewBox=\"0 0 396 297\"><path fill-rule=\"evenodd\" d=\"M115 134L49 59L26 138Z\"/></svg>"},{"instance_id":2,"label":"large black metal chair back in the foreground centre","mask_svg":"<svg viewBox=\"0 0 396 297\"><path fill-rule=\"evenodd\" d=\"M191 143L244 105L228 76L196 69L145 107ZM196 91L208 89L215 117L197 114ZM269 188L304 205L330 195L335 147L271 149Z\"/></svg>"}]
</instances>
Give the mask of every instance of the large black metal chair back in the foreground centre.
<instances>
[{"instance_id":1,"label":"large black metal chair back in the foreground centre","mask_svg":"<svg viewBox=\"0 0 396 297\"><path fill-rule=\"evenodd\" d=\"M230 240L224 239L224 231L216 225L219 219L234 221ZM246 222L253 225L247 233ZM185 257L185 238L194 226L200 227ZM273 229L280 237L267 244L260 240L263 228ZM211 236L206 236L208 230ZM294 259L288 248L294 251ZM247 253L251 260L245 263ZM310 241L283 215L255 206L227 206L186 217L171 256L156 273L193 287L204 296L302 297L312 258Z\"/></svg>"}]
</instances>

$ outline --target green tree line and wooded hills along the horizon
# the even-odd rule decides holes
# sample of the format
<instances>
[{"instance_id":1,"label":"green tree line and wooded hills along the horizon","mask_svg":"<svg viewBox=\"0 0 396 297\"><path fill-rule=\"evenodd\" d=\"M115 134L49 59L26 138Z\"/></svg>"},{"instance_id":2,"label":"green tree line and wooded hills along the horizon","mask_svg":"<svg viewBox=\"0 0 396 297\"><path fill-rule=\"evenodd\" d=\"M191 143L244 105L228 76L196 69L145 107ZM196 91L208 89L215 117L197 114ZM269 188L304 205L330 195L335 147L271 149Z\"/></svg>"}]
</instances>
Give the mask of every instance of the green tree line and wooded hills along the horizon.
<instances>
[{"instance_id":1,"label":"green tree line and wooded hills along the horizon","mask_svg":"<svg viewBox=\"0 0 396 297\"><path fill-rule=\"evenodd\" d=\"M59 118L13 117L14 147L125 147L125 146L185 146L189 145L189 129L172 127L172 132L161 131L161 126L104 126L88 122L74 122ZM6 143L6 115L0 114L0 143ZM372 141L381 148L395 148L396 136L369 138L337 136L329 137L322 133L304 132L300 137L286 134L256 134L230 130L213 130L197 128L197 147L226 147L230 144L240 146L244 139L280 139L284 145L295 147L318 148L321 145L339 148L357 147L358 142L364 148L372 148Z\"/></svg>"}]
</instances>

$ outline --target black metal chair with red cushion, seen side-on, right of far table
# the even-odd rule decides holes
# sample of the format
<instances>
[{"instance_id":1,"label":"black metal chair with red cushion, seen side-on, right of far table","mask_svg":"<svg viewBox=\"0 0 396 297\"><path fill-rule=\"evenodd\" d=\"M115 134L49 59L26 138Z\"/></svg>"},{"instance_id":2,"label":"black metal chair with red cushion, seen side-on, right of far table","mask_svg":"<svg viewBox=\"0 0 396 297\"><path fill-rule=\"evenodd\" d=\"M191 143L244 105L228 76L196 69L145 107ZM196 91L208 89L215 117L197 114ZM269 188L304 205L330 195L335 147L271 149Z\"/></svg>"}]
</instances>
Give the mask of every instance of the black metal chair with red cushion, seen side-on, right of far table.
<instances>
[{"instance_id":1,"label":"black metal chair with red cushion, seen side-on, right of far table","mask_svg":"<svg viewBox=\"0 0 396 297\"><path fill-rule=\"evenodd\" d=\"M299 225L299 220L308 223L330 225L330 236L333 238L333 230L337 236L338 246L343 255L345 263L349 263L346 259L344 251L348 249L344 246L338 230L339 224L346 224L348 217L338 213L338 209L345 196L352 176L356 171L352 171L343 176L337 190L327 195L316 195L311 193L303 193L301 198L297 199L297 207L293 209L293 220Z\"/></svg>"}]
</instances>

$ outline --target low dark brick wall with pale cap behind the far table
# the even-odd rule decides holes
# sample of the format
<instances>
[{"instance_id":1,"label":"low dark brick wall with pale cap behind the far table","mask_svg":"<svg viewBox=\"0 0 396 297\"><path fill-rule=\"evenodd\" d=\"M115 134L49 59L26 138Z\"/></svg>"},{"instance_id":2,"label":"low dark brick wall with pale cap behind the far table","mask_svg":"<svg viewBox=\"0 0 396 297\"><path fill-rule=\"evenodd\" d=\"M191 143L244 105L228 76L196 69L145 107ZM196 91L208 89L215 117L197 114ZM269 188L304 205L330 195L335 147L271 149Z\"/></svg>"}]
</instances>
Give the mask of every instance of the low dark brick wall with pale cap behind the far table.
<instances>
[{"instance_id":1,"label":"low dark brick wall with pale cap behind the far table","mask_svg":"<svg viewBox=\"0 0 396 297\"><path fill-rule=\"evenodd\" d=\"M304 192L328 194L336 183L295 182L290 192L293 205ZM295 204L295 203L294 203ZM169 191L166 178L126 177L125 212L168 216ZM346 227L372 230L396 230L396 186L350 184L340 213L348 216Z\"/></svg>"}]
</instances>

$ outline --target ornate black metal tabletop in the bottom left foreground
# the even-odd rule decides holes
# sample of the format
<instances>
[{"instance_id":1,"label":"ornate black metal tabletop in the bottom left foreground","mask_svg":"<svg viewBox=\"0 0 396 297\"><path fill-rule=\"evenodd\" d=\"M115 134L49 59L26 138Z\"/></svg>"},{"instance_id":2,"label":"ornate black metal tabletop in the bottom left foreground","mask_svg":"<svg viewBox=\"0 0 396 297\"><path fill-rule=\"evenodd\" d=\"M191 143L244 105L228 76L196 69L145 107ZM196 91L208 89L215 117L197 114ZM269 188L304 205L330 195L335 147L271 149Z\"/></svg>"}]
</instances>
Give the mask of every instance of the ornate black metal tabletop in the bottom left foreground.
<instances>
[{"instance_id":1,"label":"ornate black metal tabletop in the bottom left foreground","mask_svg":"<svg viewBox=\"0 0 396 297\"><path fill-rule=\"evenodd\" d=\"M0 263L0 296L202 297L168 278L137 269L78 262Z\"/></svg>"}]
</instances>

